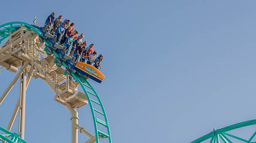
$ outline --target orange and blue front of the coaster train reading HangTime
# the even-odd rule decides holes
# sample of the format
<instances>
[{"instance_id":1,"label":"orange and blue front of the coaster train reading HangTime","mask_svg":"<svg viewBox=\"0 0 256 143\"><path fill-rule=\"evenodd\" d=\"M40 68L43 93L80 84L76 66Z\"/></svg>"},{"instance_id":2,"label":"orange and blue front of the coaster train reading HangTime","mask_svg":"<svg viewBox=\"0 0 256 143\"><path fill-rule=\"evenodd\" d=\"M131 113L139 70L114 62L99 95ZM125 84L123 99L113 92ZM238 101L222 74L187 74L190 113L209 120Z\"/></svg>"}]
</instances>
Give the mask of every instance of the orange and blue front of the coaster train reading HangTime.
<instances>
[{"instance_id":1,"label":"orange and blue front of the coaster train reading HangTime","mask_svg":"<svg viewBox=\"0 0 256 143\"><path fill-rule=\"evenodd\" d=\"M89 76L93 81L101 83L105 76L96 67L85 64L84 62L77 62L74 69L84 76Z\"/></svg>"}]
</instances>

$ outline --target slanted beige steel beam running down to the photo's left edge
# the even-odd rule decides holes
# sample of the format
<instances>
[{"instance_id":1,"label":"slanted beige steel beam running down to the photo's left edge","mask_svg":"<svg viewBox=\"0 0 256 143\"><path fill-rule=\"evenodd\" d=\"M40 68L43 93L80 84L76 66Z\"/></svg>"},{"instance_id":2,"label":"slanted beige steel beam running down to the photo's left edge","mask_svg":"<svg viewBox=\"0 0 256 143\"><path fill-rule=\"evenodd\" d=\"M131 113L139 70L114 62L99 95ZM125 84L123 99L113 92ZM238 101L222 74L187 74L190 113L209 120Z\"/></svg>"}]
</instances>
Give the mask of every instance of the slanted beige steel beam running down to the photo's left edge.
<instances>
[{"instance_id":1,"label":"slanted beige steel beam running down to the photo's left edge","mask_svg":"<svg viewBox=\"0 0 256 143\"><path fill-rule=\"evenodd\" d=\"M25 64L20 68L20 71L18 71L17 75L12 80L11 84L6 88L3 95L0 97L0 105L2 104L3 100L5 100L5 97L7 94L11 91L14 84L17 82L18 78L21 76L21 74L24 72L24 69L26 69L27 65L29 64L28 61L25 62Z\"/></svg>"}]
</instances>

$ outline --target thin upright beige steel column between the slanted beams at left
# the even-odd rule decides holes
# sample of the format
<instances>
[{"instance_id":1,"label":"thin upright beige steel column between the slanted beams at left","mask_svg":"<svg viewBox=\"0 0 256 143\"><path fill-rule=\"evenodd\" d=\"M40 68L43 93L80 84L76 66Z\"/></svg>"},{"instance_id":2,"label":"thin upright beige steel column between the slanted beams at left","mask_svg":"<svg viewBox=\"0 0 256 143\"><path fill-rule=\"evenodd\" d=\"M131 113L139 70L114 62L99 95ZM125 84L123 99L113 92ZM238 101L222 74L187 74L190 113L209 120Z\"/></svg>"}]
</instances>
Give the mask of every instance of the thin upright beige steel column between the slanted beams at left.
<instances>
[{"instance_id":1,"label":"thin upright beige steel column between the slanted beams at left","mask_svg":"<svg viewBox=\"0 0 256 143\"><path fill-rule=\"evenodd\" d=\"M21 65L24 61L21 62ZM26 107L26 69L20 77L20 108L19 108L19 123L18 123L18 134L24 139L25 131L25 107Z\"/></svg>"}]
</instances>

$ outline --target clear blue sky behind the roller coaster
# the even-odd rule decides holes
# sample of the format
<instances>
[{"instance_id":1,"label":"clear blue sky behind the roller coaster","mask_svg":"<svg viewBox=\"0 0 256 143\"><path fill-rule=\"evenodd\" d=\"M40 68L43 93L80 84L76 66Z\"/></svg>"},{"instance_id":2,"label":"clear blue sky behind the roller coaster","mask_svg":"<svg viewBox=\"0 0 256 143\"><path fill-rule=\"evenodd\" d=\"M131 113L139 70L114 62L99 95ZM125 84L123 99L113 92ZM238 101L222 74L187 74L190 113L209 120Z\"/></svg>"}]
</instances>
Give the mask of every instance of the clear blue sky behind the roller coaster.
<instances>
[{"instance_id":1,"label":"clear blue sky behind the roller coaster","mask_svg":"<svg viewBox=\"0 0 256 143\"><path fill-rule=\"evenodd\" d=\"M79 0L1 2L0 24L37 23L54 11L75 22L104 55L102 84L113 143L189 143L216 129L256 119L255 1ZM1 75L2 94L15 73ZM0 106L6 128L19 85ZM70 142L70 114L41 79L27 89L29 143ZM79 124L93 132L89 106ZM17 119L17 118L16 118ZM12 131L17 132L18 122ZM254 126L255 128L255 126ZM254 131L235 134L250 137ZM87 137L79 134L79 143ZM104 143L104 141L101 141Z\"/></svg>"}]
</instances>

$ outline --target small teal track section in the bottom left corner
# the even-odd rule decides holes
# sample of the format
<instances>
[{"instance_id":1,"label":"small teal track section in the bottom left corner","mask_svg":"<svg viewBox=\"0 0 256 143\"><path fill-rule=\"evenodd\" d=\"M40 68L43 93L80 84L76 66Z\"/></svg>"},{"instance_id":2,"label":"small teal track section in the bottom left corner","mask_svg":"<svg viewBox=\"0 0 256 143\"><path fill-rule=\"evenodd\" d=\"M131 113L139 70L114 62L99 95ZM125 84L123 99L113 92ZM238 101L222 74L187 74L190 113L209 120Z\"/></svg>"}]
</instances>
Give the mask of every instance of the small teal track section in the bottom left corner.
<instances>
[{"instance_id":1,"label":"small teal track section in the bottom left corner","mask_svg":"<svg viewBox=\"0 0 256 143\"><path fill-rule=\"evenodd\" d=\"M4 134L0 134L0 142L1 143L27 143L22 138L20 138L19 134L12 133L7 129L0 127L0 131L4 132Z\"/></svg>"}]
</instances>

